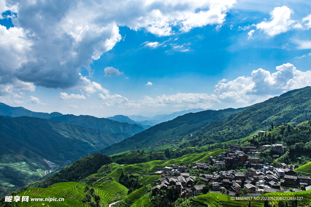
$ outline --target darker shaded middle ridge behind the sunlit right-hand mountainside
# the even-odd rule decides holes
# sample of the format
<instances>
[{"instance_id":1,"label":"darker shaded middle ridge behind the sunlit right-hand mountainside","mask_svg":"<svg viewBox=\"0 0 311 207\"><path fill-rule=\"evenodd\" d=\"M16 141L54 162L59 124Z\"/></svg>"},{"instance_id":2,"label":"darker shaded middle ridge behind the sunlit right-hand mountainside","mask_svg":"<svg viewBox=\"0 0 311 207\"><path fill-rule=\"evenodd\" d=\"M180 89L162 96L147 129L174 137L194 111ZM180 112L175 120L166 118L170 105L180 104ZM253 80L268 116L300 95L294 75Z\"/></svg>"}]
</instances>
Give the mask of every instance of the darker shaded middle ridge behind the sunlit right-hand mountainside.
<instances>
[{"instance_id":1,"label":"darker shaded middle ridge behind the sunlit right-hand mountainside","mask_svg":"<svg viewBox=\"0 0 311 207\"><path fill-rule=\"evenodd\" d=\"M197 113L188 113L179 116L173 120L157 124L146 131L123 140L118 144L114 144L100 151L100 153L112 155L124 151L131 151L133 148L147 148L152 143L161 140L179 138L190 134L216 120L223 119L245 108L224 109L224 110L207 110Z\"/></svg>"}]
</instances>

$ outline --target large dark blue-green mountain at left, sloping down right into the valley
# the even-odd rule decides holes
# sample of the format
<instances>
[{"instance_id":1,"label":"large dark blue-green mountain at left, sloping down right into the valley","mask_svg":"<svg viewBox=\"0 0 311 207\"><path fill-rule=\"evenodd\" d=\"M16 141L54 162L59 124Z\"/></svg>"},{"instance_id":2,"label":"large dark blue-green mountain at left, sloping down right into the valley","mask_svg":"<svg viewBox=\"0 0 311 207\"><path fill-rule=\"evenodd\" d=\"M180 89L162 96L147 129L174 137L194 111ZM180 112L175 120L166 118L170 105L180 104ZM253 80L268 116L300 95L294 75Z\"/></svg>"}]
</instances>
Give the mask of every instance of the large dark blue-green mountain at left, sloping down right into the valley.
<instances>
[{"instance_id":1,"label":"large dark blue-green mountain at left, sloping down right into the valley","mask_svg":"<svg viewBox=\"0 0 311 207\"><path fill-rule=\"evenodd\" d=\"M25 161L24 158L43 163L44 158L61 164L128 137L125 133L27 116L0 116L0 128L1 163Z\"/></svg>"}]
</instances>

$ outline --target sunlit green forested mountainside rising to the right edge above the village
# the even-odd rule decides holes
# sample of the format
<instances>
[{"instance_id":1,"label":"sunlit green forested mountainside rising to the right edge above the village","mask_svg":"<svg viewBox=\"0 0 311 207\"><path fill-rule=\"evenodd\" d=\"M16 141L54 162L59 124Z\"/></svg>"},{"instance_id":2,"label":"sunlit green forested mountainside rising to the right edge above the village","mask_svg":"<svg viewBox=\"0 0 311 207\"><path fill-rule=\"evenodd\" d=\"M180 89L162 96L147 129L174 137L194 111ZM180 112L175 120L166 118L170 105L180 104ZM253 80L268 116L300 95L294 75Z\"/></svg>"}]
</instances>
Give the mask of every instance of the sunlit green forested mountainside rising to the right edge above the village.
<instances>
[{"instance_id":1,"label":"sunlit green forested mountainside rising to the right edge above the village","mask_svg":"<svg viewBox=\"0 0 311 207\"><path fill-rule=\"evenodd\" d=\"M187 136L189 141L179 147L204 146L211 143L240 139L256 130L268 129L271 123L297 125L311 117L311 87L286 92L248 107L225 119L208 124Z\"/></svg>"}]
</instances>

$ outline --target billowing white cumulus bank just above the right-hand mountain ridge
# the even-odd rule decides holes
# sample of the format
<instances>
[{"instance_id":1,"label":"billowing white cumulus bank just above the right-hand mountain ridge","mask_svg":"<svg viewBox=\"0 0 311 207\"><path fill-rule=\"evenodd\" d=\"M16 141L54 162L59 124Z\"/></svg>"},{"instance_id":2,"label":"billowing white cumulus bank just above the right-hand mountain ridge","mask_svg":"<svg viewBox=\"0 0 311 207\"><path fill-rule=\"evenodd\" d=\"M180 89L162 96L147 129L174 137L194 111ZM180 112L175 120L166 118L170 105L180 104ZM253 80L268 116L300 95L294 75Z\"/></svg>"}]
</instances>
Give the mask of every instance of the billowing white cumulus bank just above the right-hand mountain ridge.
<instances>
[{"instance_id":1,"label":"billowing white cumulus bank just above the right-hand mountain ridge","mask_svg":"<svg viewBox=\"0 0 311 207\"><path fill-rule=\"evenodd\" d=\"M218 83L214 94L222 102L251 104L258 101L258 97L266 99L268 96L311 85L311 70L303 72L290 63L277 66L276 70L277 72L270 73L259 68L253 70L251 76Z\"/></svg>"}]
</instances>

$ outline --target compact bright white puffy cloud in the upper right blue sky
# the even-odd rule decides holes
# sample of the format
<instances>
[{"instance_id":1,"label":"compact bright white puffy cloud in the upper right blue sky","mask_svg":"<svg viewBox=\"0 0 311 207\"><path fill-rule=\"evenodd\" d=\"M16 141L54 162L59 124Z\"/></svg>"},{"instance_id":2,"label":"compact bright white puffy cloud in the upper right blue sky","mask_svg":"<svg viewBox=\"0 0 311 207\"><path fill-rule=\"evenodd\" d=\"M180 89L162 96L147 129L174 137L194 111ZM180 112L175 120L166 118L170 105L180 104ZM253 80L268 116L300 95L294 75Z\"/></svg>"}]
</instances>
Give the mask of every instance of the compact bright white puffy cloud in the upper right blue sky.
<instances>
[{"instance_id":1,"label":"compact bright white puffy cloud in the upper right blue sky","mask_svg":"<svg viewBox=\"0 0 311 207\"><path fill-rule=\"evenodd\" d=\"M293 10L286 6L282 7L275 7L271 15L271 21L262 21L261 23L257 24L257 29L263 30L270 36L278 35L282 32L286 32L290 30L290 27L294 20L290 19L290 15L294 13Z\"/></svg>"}]
</instances>

